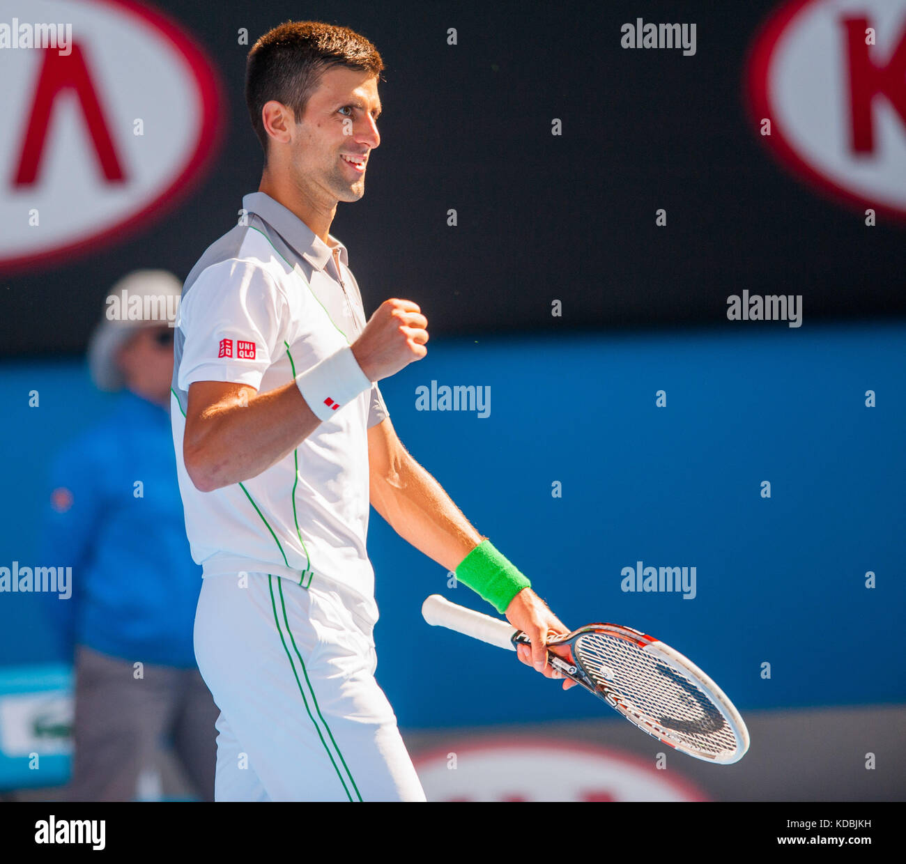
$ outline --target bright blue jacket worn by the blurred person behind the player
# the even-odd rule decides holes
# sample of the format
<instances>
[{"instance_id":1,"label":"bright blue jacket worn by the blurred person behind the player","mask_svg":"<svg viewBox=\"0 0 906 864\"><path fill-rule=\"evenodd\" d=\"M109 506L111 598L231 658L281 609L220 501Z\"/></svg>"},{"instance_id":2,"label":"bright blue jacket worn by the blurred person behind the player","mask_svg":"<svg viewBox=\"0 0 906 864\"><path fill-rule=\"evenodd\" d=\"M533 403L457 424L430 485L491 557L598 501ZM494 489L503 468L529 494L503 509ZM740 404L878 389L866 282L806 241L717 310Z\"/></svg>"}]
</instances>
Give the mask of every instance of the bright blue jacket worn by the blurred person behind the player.
<instances>
[{"instance_id":1,"label":"bright blue jacket worn by the blurred person behind the player","mask_svg":"<svg viewBox=\"0 0 906 864\"><path fill-rule=\"evenodd\" d=\"M138 485L140 484L140 485ZM43 561L72 567L72 597L45 594L69 654L195 666L201 568L192 561L166 409L123 393L51 470Z\"/></svg>"}]
</instances>

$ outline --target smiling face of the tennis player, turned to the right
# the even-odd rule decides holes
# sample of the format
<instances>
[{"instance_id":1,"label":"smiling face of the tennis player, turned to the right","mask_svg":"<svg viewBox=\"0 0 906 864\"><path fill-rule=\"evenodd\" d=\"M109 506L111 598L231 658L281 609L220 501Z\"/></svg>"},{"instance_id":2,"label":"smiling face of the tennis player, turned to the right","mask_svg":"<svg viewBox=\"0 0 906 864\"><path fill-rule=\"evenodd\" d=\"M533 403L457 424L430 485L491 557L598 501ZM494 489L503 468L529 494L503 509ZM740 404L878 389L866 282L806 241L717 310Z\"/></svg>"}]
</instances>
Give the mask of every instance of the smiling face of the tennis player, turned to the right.
<instances>
[{"instance_id":1,"label":"smiling face of the tennis player, turned to the right","mask_svg":"<svg viewBox=\"0 0 906 864\"><path fill-rule=\"evenodd\" d=\"M316 197L358 201L369 154L381 143L380 113L376 76L342 66L324 72L293 137L299 185Z\"/></svg>"}]
</instances>

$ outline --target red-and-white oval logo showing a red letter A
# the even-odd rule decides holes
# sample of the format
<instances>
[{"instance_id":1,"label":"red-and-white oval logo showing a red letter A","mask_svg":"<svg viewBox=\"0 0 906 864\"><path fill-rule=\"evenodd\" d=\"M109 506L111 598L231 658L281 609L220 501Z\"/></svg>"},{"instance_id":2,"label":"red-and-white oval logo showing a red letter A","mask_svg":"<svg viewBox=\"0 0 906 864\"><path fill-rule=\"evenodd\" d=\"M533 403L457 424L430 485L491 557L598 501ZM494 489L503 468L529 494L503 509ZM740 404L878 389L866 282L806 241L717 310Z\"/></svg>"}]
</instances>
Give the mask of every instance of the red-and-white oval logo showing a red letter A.
<instances>
[{"instance_id":1,"label":"red-and-white oval logo showing a red letter A","mask_svg":"<svg viewBox=\"0 0 906 864\"><path fill-rule=\"evenodd\" d=\"M176 24L133 0L0 0L4 25L0 268L120 240L200 178L220 87ZM71 38L32 47L49 30Z\"/></svg>"}]
</instances>

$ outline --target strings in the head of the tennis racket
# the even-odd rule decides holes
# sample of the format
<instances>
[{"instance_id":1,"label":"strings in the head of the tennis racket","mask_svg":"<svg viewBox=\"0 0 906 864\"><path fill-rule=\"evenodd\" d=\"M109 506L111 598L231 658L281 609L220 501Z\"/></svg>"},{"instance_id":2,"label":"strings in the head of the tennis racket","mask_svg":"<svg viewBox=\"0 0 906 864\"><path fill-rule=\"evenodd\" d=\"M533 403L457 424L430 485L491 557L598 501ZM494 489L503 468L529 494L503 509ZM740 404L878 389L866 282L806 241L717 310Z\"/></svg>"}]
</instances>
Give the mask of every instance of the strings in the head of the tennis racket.
<instances>
[{"instance_id":1,"label":"strings in the head of the tennis racket","mask_svg":"<svg viewBox=\"0 0 906 864\"><path fill-rule=\"evenodd\" d=\"M610 691L617 710L645 731L700 754L722 756L738 742L724 715L688 677L623 638L588 633L575 658L595 685Z\"/></svg>"}]
</instances>

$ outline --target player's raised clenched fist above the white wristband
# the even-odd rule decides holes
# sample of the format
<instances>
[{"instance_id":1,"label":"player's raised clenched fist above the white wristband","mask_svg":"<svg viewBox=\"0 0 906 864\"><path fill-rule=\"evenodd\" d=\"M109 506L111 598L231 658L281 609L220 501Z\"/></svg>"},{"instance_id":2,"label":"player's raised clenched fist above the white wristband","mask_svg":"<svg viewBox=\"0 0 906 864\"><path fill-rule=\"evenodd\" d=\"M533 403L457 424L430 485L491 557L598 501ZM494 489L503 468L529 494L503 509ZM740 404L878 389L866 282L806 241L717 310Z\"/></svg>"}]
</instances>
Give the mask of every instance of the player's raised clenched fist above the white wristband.
<instances>
[{"instance_id":1,"label":"player's raised clenched fist above the white wristband","mask_svg":"<svg viewBox=\"0 0 906 864\"><path fill-rule=\"evenodd\" d=\"M427 327L428 319L418 303L393 297L371 315L361 336L352 343L352 354L370 381L390 378L428 353Z\"/></svg>"}]
</instances>

